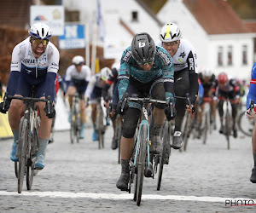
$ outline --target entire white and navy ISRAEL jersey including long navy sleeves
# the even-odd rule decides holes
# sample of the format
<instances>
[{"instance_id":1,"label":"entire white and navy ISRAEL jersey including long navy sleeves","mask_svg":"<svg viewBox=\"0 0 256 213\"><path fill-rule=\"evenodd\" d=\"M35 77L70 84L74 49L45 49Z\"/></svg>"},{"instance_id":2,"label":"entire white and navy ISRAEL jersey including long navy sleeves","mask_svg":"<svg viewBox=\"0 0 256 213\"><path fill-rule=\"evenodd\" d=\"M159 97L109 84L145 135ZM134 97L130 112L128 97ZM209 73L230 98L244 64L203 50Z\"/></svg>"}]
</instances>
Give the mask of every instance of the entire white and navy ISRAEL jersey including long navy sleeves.
<instances>
[{"instance_id":1,"label":"entire white and navy ISRAEL jersey including long navy sleeves","mask_svg":"<svg viewBox=\"0 0 256 213\"><path fill-rule=\"evenodd\" d=\"M55 100L55 77L59 70L60 54L53 43L48 43L43 55L32 55L30 37L17 44L12 53L11 74L7 91L9 95L31 96L32 85L36 97L51 96Z\"/></svg>"}]
</instances>

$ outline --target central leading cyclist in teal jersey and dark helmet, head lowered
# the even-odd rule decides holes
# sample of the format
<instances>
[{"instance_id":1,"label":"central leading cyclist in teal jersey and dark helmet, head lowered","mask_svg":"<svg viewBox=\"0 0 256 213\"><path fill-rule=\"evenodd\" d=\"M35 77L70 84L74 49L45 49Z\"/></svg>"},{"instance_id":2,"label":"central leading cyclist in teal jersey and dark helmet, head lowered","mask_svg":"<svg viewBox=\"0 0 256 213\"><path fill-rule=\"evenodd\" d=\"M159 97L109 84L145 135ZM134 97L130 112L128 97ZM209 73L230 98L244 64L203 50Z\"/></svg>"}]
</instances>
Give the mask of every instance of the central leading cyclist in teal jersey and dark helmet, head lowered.
<instances>
[{"instance_id":1,"label":"central leading cyclist in teal jersey and dark helmet, head lowered","mask_svg":"<svg viewBox=\"0 0 256 213\"><path fill-rule=\"evenodd\" d=\"M170 101L173 97L172 57L166 49L156 47L148 33L137 33L131 47L125 49L119 71L119 104L117 111L124 120L121 138L121 176L116 183L120 190L127 190L129 181L129 161L133 149L133 136L141 114L142 106L129 102L125 114L120 112L123 96L143 96L145 93L157 100ZM166 113L166 115L165 115ZM171 119L170 109L154 106L154 123L150 124L150 152L160 153L162 144L160 132L165 118Z\"/></svg>"}]
</instances>

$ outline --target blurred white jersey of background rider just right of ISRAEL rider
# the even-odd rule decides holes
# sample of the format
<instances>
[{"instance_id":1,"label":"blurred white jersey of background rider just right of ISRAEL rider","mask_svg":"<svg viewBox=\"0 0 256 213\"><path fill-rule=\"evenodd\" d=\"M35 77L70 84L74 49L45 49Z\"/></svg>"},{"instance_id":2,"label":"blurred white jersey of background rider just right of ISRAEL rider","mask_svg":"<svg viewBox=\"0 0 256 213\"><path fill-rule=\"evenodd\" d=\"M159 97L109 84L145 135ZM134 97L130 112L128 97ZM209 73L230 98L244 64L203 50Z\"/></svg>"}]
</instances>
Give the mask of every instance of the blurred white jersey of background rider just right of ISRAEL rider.
<instances>
[{"instance_id":1,"label":"blurred white jersey of background rider just right of ISRAEL rider","mask_svg":"<svg viewBox=\"0 0 256 213\"><path fill-rule=\"evenodd\" d=\"M74 65L68 66L65 80L71 81L72 78L76 79L76 80L85 80L85 81L89 82L90 81L90 67L83 65L81 72L78 72Z\"/></svg>"}]
</instances>

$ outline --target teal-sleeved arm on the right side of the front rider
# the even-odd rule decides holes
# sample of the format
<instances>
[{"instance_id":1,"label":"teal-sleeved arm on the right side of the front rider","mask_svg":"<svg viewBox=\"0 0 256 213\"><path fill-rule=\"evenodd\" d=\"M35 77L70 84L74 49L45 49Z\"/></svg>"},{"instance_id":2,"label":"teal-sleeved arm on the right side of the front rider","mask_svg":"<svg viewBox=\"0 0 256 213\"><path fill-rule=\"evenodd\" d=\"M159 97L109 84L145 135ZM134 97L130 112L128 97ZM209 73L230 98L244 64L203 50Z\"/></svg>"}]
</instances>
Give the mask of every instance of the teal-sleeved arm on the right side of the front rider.
<instances>
[{"instance_id":1,"label":"teal-sleeved arm on the right side of the front rider","mask_svg":"<svg viewBox=\"0 0 256 213\"><path fill-rule=\"evenodd\" d=\"M170 101L174 94L174 72L172 57L166 49L157 47L156 56L160 59L160 68L163 71L164 88L166 90L166 101Z\"/></svg>"}]
</instances>

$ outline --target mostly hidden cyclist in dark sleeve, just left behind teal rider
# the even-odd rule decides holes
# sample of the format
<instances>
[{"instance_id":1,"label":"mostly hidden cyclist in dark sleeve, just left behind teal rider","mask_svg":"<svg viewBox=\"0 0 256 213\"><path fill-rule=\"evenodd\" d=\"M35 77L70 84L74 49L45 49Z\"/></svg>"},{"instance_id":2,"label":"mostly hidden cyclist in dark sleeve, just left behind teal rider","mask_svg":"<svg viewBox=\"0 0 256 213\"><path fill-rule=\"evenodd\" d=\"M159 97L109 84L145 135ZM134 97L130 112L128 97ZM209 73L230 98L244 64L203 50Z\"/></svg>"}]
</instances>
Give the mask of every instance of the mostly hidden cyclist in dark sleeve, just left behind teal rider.
<instances>
[{"instance_id":1,"label":"mostly hidden cyclist in dark sleeve, just left behind teal rider","mask_svg":"<svg viewBox=\"0 0 256 213\"><path fill-rule=\"evenodd\" d=\"M112 86L112 94L113 94L114 89L116 88L116 85L118 83L119 68L120 68L120 63L119 62L113 63L112 73L110 74L107 82L105 83L105 85L104 85L104 87L102 89L102 96L103 96L103 99L105 101L105 106L107 106L107 108L109 107L109 101L111 101L111 97L113 96L113 95L111 95L111 97L109 96L108 90L113 85ZM111 120L112 120L113 131L114 131L115 130L116 116L113 116L111 118ZM113 139L112 139L112 144L111 144L111 148L112 149L116 149L118 147L118 141L115 140L114 135L115 135L115 133L113 132Z\"/></svg>"}]
</instances>

